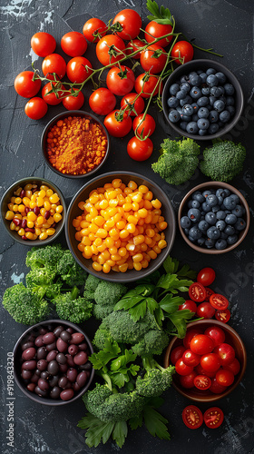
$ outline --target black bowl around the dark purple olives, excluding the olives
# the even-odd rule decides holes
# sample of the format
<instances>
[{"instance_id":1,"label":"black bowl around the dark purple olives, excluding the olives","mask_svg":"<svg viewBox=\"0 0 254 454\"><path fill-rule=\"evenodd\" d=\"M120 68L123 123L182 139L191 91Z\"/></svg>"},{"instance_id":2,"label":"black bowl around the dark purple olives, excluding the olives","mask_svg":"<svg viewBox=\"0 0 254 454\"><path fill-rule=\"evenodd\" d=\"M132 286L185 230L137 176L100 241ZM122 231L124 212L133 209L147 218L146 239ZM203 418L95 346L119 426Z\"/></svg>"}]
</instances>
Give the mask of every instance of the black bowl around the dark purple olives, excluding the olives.
<instances>
[{"instance_id":1,"label":"black bowl around the dark purple olives, excluding the olives","mask_svg":"<svg viewBox=\"0 0 254 454\"><path fill-rule=\"evenodd\" d=\"M16 384L18 385L20 390L22 390L24 392L25 396L28 397L29 399L32 399L35 402L38 402L38 403L41 403L44 405L54 406L54 407L59 407L60 405L65 405L67 403L71 403L74 400L77 400L81 396L83 396L84 392L86 390L88 390L88 388L90 387L90 385L93 381L93 376L94 376L94 370L92 369L92 370L90 370L90 376L86 380L83 388L81 388L81 390L78 390L77 392L75 392L73 398L70 400L61 400L60 398L59 399L44 398L44 397L41 397L41 396L35 394L34 392L31 392L26 389L25 382L24 382L23 378L21 377L22 351L23 351L21 345L26 340L29 341L29 339L31 339L31 336L33 338L34 338L34 335L35 335L35 337L38 336L40 334L40 330L42 328L51 326L52 330L54 331L54 328L56 328L59 325L62 325L65 330L68 328L72 328L73 332L81 332L84 336L84 342L86 342L86 344L88 346L89 354L93 353L93 345L92 345L91 341L89 340L89 338L87 337L87 335L85 334L85 332L78 325L71 323L71 321L64 321L64 320L48 320L48 321L42 321L41 323L36 323L35 325L31 326L26 331L24 331L24 333L20 336L18 341L16 341L15 348L14 348L14 376L15 376Z\"/></svg>"}]
</instances>

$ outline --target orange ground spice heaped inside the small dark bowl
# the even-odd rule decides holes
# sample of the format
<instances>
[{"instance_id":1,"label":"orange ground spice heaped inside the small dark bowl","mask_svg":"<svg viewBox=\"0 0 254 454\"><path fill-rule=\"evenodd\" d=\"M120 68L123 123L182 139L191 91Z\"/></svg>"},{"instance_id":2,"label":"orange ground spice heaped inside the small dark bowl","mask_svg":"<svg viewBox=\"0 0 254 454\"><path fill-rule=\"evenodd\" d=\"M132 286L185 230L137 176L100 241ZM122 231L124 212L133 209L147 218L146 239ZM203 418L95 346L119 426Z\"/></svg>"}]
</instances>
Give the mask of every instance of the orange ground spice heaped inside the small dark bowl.
<instances>
[{"instance_id":1,"label":"orange ground spice heaped inside the small dark bowl","mask_svg":"<svg viewBox=\"0 0 254 454\"><path fill-rule=\"evenodd\" d=\"M47 134L49 162L61 173L81 175L102 163L107 136L92 117L68 116Z\"/></svg>"}]
</instances>

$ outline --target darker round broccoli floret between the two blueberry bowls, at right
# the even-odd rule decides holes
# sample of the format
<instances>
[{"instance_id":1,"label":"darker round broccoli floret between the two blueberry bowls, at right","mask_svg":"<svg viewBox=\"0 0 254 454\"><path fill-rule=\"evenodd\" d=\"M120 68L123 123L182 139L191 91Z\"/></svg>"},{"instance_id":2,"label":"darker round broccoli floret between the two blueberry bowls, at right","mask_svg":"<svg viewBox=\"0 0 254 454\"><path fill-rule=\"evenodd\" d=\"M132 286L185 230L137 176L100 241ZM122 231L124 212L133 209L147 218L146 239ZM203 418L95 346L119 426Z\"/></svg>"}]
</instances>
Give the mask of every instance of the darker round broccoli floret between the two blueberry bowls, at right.
<instances>
[{"instance_id":1,"label":"darker round broccoli floret between the two blueberry bowls, at right","mask_svg":"<svg viewBox=\"0 0 254 454\"><path fill-rule=\"evenodd\" d=\"M241 143L220 141L203 152L200 170L212 180L230 182L242 171L246 150Z\"/></svg>"}]
</instances>

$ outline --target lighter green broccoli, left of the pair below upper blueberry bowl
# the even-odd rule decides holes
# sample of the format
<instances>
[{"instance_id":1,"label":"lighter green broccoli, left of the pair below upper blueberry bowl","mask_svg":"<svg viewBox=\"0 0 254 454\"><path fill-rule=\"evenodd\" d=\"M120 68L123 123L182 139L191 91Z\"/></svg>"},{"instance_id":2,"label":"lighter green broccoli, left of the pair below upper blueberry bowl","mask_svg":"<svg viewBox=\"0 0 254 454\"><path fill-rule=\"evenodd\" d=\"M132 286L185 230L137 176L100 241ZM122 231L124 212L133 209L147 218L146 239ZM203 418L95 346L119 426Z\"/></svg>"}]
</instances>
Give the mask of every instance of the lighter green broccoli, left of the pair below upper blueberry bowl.
<instances>
[{"instance_id":1,"label":"lighter green broccoli, left of the pair below upper blueberry bowl","mask_svg":"<svg viewBox=\"0 0 254 454\"><path fill-rule=\"evenodd\" d=\"M167 183L181 184L190 179L199 164L200 145L192 139L161 143L161 156L151 168Z\"/></svg>"}]
</instances>

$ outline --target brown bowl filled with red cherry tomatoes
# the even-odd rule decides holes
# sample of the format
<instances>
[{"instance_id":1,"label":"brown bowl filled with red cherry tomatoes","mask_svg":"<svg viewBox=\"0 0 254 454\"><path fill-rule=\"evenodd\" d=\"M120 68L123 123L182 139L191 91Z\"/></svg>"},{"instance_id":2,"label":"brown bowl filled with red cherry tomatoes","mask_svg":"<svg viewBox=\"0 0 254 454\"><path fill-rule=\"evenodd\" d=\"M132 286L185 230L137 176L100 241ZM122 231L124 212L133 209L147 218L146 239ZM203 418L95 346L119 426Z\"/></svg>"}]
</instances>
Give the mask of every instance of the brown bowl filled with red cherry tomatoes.
<instances>
[{"instance_id":1,"label":"brown bowl filled with red cherry tomatoes","mask_svg":"<svg viewBox=\"0 0 254 454\"><path fill-rule=\"evenodd\" d=\"M197 402L228 396L242 380L246 361L239 334L217 320L189 323L184 339L174 337L164 357L165 367L176 369L174 388Z\"/></svg>"}]
</instances>

